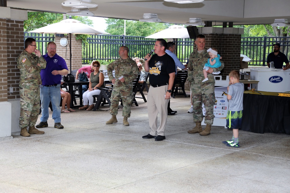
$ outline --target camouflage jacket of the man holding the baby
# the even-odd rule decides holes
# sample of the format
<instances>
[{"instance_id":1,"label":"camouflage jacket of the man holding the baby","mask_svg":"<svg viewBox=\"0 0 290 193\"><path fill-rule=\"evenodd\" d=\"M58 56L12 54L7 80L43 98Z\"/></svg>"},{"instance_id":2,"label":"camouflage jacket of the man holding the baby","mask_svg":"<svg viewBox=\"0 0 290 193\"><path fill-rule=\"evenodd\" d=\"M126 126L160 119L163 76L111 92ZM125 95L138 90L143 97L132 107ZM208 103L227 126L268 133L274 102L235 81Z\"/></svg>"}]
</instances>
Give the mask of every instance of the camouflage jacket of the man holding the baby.
<instances>
[{"instance_id":1,"label":"camouflage jacket of the man holding the baby","mask_svg":"<svg viewBox=\"0 0 290 193\"><path fill-rule=\"evenodd\" d=\"M195 50L195 52L192 52L189 56L187 81L190 83L202 84L202 80L204 79L202 70L205 63L207 63L207 60L210 58L206 50L207 49L205 48L200 54ZM214 72L221 71L224 68L224 63L221 60L220 62L222 65L218 68L213 68ZM215 82L213 74L209 74L207 78L209 78L209 80L204 83Z\"/></svg>"}]
</instances>

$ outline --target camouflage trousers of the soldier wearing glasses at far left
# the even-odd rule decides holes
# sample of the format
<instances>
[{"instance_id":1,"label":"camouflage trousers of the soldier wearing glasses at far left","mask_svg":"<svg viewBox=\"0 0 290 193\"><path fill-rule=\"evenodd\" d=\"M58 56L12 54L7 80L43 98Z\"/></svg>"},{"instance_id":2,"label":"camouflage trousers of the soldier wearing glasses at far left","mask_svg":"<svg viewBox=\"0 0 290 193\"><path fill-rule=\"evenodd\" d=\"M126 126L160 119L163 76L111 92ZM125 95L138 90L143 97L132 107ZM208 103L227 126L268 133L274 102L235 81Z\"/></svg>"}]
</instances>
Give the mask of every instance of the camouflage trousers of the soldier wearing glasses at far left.
<instances>
[{"instance_id":1,"label":"camouflage trousers of the soldier wearing glasses at far left","mask_svg":"<svg viewBox=\"0 0 290 193\"><path fill-rule=\"evenodd\" d=\"M19 128L34 126L40 110L39 85L21 86Z\"/></svg>"}]
</instances>

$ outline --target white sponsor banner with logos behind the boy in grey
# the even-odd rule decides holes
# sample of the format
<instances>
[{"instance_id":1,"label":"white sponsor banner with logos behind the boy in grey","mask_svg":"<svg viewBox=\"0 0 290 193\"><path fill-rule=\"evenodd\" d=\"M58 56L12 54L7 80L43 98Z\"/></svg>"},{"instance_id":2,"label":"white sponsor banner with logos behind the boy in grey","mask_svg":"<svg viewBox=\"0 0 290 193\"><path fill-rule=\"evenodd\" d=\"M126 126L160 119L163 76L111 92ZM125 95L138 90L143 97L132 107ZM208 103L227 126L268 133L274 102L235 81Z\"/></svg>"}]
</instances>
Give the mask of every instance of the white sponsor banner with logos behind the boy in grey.
<instances>
[{"instance_id":1,"label":"white sponsor banner with logos behind the boy in grey","mask_svg":"<svg viewBox=\"0 0 290 193\"><path fill-rule=\"evenodd\" d=\"M218 118L226 118L229 109L229 101L226 98L228 87L215 87L215 104L213 114ZM204 104L202 104L202 113L205 115Z\"/></svg>"}]
</instances>

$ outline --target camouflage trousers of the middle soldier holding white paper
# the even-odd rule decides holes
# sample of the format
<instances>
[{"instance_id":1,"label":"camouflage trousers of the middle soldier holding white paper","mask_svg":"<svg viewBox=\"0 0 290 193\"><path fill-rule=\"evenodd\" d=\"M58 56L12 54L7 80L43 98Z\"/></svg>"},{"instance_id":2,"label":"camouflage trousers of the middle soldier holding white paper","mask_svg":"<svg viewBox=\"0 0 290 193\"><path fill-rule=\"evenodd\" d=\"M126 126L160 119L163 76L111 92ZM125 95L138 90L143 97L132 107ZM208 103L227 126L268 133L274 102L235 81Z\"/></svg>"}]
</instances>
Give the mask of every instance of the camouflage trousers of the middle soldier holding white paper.
<instances>
[{"instance_id":1,"label":"camouflage trousers of the middle soldier holding white paper","mask_svg":"<svg viewBox=\"0 0 290 193\"><path fill-rule=\"evenodd\" d=\"M118 114L118 106L120 98L122 98L123 103L123 117L130 117L131 115L131 103L133 102L133 91L132 85L126 85L125 87L115 86L113 87L112 95L111 95L111 106L110 106L110 114L117 115Z\"/></svg>"}]
</instances>

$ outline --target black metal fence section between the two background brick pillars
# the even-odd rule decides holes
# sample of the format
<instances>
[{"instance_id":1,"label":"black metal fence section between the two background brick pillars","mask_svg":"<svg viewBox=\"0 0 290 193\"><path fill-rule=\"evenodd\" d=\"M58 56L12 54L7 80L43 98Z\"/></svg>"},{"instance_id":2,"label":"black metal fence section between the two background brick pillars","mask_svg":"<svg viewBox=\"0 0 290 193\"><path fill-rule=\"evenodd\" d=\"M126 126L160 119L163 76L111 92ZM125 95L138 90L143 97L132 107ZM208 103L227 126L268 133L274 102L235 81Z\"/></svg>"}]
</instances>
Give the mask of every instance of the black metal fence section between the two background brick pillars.
<instances>
[{"instance_id":1,"label":"black metal fence section between the two background brick pillars","mask_svg":"<svg viewBox=\"0 0 290 193\"><path fill-rule=\"evenodd\" d=\"M118 50L121 46L129 48L131 58L144 58L154 47L156 39L137 36L92 35L87 38L88 45L84 44L83 63L91 60L115 60L119 58ZM194 41L191 39L177 39L177 56L186 62L193 50Z\"/></svg>"}]
</instances>

